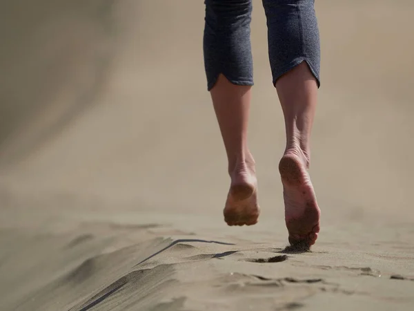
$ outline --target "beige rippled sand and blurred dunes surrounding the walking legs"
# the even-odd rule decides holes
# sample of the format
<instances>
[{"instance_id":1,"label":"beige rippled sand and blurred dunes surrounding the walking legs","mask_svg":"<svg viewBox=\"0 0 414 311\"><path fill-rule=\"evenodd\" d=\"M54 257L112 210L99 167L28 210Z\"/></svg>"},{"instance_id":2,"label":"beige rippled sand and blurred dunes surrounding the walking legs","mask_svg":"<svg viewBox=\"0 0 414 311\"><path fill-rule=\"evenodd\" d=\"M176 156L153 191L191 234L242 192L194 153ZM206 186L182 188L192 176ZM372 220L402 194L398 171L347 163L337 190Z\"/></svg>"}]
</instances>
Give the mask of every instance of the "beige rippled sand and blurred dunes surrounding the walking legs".
<instances>
[{"instance_id":1,"label":"beige rippled sand and blurred dunes surrounding the walking legs","mask_svg":"<svg viewBox=\"0 0 414 311\"><path fill-rule=\"evenodd\" d=\"M202 1L2 1L0 310L413 310L414 3L316 1L322 230L286 251L254 1L262 214L228 227Z\"/></svg>"}]
</instances>

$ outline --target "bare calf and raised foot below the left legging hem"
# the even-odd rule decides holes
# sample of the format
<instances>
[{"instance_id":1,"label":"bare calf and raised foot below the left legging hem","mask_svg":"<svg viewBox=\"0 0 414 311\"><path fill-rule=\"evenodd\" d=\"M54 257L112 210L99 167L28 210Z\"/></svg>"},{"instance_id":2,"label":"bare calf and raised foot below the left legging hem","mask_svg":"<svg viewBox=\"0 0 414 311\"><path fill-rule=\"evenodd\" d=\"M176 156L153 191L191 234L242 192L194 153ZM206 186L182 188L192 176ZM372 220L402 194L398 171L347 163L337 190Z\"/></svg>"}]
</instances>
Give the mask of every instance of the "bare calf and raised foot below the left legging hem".
<instances>
[{"instance_id":1,"label":"bare calf and raised foot below the left legging hem","mask_svg":"<svg viewBox=\"0 0 414 311\"><path fill-rule=\"evenodd\" d=\"M228 158L231 183L224 220L228 225L254 225L259 217L255 160L247 146L251 86L232 84L219 75L210 91Z\"/></svg>"}]
</instances>

